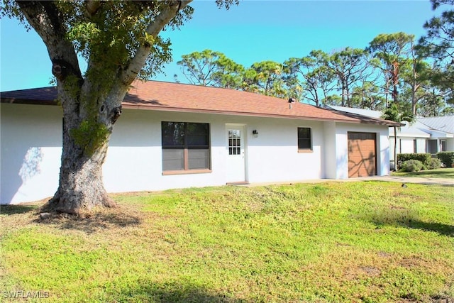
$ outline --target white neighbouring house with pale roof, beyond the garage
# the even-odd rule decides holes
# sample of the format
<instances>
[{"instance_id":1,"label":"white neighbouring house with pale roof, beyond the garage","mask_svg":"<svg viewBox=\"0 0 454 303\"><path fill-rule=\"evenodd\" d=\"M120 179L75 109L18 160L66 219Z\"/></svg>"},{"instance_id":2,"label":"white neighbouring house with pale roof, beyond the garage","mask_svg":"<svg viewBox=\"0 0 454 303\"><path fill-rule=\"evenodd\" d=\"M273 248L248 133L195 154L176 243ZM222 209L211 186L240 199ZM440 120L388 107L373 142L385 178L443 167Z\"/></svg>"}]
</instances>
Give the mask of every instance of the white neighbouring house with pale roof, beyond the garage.
<instances>
[{"instance_id":1,"label":"white neighbouring house with pale roof, beyond the garage","mask_svg":"<svg viewBox=\"0 0 454 303\"><path fill-rule=\"evenodd\" d=\"M374 118L382 116L381 111L352 109L342 106L329 106L331 109L348 113L362 114ZM397 128L397 153L431 153L454 151L454 116L416 118L414 123L402 122ZM394 130L389 128L390 160L394 161Z\"/></svg>"}]
</instances>

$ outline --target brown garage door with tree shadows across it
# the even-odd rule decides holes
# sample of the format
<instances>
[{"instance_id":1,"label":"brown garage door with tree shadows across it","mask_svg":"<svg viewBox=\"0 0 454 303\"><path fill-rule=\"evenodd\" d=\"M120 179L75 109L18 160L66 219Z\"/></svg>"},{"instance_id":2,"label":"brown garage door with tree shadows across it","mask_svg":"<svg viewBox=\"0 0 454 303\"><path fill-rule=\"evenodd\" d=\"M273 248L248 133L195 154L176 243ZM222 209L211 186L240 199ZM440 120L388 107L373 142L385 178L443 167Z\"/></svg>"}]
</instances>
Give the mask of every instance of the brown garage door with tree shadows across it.
<instances>
[{"instance_id":1,"label":"brown garage door with tree shadows across it","mask_svg":"<svg viewBox=\"0 0 454 303\"><path fill-rule=\"evenodd\" d=\"M375 133L348 133L348 177L377 175Z\"/></svg>"}]
</instances>

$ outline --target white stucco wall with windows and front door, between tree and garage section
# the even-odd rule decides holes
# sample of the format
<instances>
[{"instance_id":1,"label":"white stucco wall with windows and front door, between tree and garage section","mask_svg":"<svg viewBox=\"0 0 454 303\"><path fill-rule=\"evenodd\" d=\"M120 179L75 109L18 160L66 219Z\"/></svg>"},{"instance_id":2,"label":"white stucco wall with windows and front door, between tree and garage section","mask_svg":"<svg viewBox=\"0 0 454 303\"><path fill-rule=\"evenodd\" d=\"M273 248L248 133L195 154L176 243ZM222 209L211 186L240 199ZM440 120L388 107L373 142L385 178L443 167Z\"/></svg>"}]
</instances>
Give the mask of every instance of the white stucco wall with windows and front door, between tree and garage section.
<instances>
[{"instance_id":1,"label":"white stucco wall with windows and front door, between tree and garage section","mask_svg":"<svg viewBox=\"0 0 454 303\"><path fill-rule=\"evenodd\" d=\"M162 175L161 121L210 123L210 173ZM323 124L319 121L125 110L109 143L104 164L106 189L109 192L124 192L226 184L228 123L245 126L246 181L295 181L323 177ZM313 152L298 153L298 127L311 128ZM254 129L259 132L258 138L252 136ZM131 170L130 167L140 167L140 170Z\"/></svg>"}]
</instances>

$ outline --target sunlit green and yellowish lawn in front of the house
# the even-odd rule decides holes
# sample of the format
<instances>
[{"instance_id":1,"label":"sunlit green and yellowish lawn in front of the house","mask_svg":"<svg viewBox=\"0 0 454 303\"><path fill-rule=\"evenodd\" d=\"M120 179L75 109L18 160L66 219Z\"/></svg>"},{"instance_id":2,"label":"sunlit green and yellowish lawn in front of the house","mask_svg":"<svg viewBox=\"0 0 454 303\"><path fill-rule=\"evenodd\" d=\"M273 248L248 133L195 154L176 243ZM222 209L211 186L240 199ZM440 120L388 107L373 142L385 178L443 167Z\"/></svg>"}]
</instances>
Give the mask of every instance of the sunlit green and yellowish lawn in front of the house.
<instances>
[{"instance_id":1,"label":"sunlit green and yellowish lawn in front of the house","mask_svg":"<svg viewBox=\"0 0 454 303\"><path fill-rule=\"evenodd\" d=\"M78 218L2 207L2 299L454 299L454 187L326 182L113 197L118 209Z\"/></svg>"}]
</instances>

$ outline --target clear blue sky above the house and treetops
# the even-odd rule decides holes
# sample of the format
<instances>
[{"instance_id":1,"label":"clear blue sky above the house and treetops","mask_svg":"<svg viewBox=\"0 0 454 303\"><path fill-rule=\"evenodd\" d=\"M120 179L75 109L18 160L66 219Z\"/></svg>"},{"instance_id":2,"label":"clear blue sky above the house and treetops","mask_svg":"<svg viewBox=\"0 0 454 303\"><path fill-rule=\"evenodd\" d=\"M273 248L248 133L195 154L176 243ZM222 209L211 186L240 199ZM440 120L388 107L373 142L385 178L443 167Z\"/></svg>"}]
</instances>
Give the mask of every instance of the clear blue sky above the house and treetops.
<instances>
[{"instance_id":1,"label":"clear blue sky above the house and treetops","mask_svg":"<svg viewBox=\"0 0 454 303\"><path fill-rule=\"evenodd\" d=\"M284 62L311 50L330 53L365 48L380 33L403 31L419 38L423 23L438 14L428 0L413 1L241 1L229 11L214 1L194 1L194 17L172 41L174 61L155 79L186 82L176 62L182 55L211 49L249 67L254 62ZM42 40L18 21L0 23L0 90L49 86L50 60Z\"/></svg>"}]
</instances>

